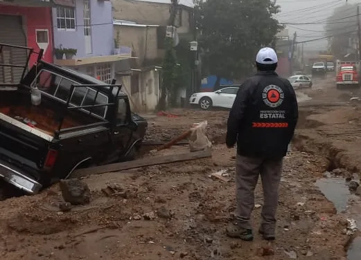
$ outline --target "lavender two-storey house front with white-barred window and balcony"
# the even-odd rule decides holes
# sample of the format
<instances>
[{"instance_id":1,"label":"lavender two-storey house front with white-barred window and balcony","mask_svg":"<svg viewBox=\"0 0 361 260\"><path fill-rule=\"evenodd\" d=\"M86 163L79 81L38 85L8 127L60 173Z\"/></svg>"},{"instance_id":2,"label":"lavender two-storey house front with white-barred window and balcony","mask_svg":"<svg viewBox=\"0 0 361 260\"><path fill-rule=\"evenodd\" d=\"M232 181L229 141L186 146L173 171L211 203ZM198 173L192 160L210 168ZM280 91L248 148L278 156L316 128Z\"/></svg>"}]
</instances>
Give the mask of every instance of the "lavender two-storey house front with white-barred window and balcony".
<instances>
[{"instance_id":1,"label":"lavender two-storey house front with white-barred window and balcony","mask_svg":"<svg viewBox=\"0 0 361 260\"><path fill-rule=\"evenodd\" d=\"M112 3L107 0L55 0L55 64L69 66L110 84L117 62L131 48L115 52Z\"/></svg>"}]
</instances>

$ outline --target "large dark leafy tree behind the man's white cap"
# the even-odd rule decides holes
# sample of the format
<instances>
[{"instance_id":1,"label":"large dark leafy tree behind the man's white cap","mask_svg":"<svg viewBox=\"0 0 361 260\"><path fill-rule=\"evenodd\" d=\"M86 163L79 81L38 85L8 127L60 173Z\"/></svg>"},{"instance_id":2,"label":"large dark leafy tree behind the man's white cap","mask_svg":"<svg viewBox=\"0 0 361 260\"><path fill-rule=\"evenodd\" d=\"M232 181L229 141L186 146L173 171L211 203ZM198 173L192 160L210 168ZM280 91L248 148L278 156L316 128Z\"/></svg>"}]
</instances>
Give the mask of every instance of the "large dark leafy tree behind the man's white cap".
<instances>
[{"instance_id":1,"label":"large dark leafy tree behind the man's white cap","mask_svg":"<svg viewBox=\"0 0 361 260\"><path fill-rule=\"evenodd\" d=\"M253 70L259 48L271 46L281 28L272 0L195 0L204 74L240 78Z\"/></svg>"}]
</instances>

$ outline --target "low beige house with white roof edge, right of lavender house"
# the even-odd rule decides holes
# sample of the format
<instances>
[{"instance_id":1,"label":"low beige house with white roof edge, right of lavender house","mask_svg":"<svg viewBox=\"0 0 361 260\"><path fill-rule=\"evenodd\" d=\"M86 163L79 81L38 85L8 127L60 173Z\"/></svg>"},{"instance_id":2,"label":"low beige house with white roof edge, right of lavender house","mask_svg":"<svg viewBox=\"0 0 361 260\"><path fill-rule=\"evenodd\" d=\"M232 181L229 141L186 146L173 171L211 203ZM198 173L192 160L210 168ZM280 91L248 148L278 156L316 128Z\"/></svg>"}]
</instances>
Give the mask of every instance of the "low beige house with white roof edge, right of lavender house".
<instances>
[{"instance_id":1,"label":"low beige house with white roof edge, right of lavender house","mask_svg":"<svg viewBox=\"0 0 361 260\"><path fill-rule=\"evenodd\" d=\"M130 96L130 106L137 112L154 111L159 100L159 64L157 25L137 24L132 21L114 20L116 42L132 46L137 59L128 66L118 67L117 82L122 82L123 91ZM149 65L149 66L148 66ZM158 67L158 68L157 68Z\"/></svg>"}]
</instances>

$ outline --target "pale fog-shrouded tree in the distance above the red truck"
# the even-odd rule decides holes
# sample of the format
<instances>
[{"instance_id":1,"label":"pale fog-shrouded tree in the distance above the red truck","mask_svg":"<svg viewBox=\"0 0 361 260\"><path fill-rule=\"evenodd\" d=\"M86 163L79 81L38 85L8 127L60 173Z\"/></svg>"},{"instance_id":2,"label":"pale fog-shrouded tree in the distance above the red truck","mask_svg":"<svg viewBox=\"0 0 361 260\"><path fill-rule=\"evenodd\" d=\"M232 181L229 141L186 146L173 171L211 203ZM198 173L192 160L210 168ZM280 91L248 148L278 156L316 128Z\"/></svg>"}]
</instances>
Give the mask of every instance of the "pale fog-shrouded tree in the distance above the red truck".
<instances>
[{"instance_id":1,"label":"pale fog-shrouded tree in the distance above the red truck","mask_svg":"<svg viewBox=\"0 0 361 260\"><path fill-rule=\"evenodd\" d=\"M335 57L342 59L350 51L350 37L357 35L357 5L346 4L333 10L333 15L328 17L325 36L330 37L328 44Z\"/></svg>"}]
</instances>

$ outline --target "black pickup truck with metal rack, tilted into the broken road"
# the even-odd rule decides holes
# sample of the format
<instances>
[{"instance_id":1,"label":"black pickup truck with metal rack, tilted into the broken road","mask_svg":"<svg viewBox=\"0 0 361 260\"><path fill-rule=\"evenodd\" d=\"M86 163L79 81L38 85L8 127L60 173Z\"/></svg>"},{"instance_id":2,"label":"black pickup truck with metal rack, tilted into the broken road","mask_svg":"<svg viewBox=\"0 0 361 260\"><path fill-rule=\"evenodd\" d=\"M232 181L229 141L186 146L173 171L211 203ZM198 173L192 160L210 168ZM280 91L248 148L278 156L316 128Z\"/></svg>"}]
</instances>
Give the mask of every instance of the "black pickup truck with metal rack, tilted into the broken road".
<instances>
[{"instance_id":1,"label":"black pickup truck with metal rack, tilted into the broken road","mask_svg":"<svg viewBox=\"0 0 361 260\"><path fill-rule=\"evenodd\" d=\"M3 64L6 49L27 50L25 64ZM37 62L28 71L30 55ZM0 75L0 189L2 180L37 194L75 169L132 160L148 123L130 111L121 85L44 62L42 51L0 44L0 71L19 68L18 83Z\"/></svg>"}]
</instances>

